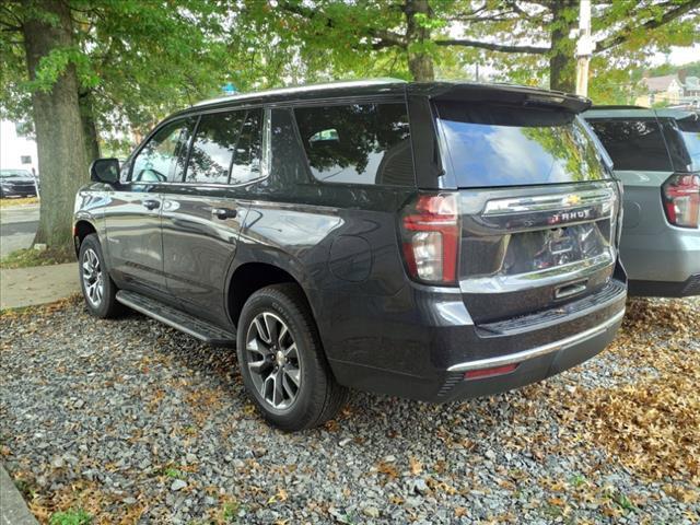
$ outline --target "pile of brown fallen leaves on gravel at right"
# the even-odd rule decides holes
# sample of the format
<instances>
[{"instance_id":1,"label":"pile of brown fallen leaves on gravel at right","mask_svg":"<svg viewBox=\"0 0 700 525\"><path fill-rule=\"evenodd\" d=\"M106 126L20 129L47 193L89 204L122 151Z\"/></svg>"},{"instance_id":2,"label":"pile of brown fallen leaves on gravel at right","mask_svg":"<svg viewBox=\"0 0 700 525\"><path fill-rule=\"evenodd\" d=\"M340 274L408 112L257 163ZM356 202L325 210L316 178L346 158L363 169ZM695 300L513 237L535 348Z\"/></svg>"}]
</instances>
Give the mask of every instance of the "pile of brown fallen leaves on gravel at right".
<instances>
[{"instance_id":1,"label":"pile of brown fallen leaves on gravel at right","mask_svg":"<svg viewBox=\"0 0 700 525\"><path fill-rule=\"evenodd\" d=\"M604 444L629 468L649 478L689 479L695 486L700 485L698 315L681 302L630 302L608 352L655 373L615 389L579 390L569 407L587 429L584 439ZM697 501L697 491L687 498Z\"/></svg>"}]
</instances>

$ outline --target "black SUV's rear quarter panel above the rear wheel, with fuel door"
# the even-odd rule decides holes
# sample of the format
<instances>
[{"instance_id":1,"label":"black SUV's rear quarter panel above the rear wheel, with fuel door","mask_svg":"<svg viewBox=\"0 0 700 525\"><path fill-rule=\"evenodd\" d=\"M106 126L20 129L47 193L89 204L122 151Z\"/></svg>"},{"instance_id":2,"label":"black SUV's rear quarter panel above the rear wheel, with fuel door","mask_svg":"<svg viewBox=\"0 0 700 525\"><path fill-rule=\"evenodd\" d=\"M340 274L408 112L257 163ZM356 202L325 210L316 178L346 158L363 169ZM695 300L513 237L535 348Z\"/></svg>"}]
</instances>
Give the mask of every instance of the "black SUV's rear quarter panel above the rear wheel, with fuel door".
<instances>
[{"instance_id":1,"label":"black SUV's rear quarter panel above the rear wheel, with fuel door","mask_svg":"<svg viewBox=\"0 0 700 525\"><path fill-rule=\"evenodd\" d=\"M408 282L396 212L411 191L308 184L284 201L252 201L234 266L288 271L306 293L328 357L363 361L349 354L378 348L390 317L369 312Z\"/></svg>"}]
</instances>

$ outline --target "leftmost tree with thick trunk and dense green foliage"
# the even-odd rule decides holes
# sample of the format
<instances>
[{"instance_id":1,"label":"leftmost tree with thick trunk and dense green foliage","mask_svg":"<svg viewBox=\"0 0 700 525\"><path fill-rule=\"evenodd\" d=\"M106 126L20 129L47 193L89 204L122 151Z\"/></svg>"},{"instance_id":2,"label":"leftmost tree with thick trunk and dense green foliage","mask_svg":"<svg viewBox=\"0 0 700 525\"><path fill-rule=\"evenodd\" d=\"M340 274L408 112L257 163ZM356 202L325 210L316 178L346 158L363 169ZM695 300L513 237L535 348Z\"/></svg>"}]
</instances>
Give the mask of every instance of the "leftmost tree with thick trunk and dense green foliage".
<instances>
[{"instance_id":1,"label":"leftmost tree with thick trunk and dense green foliage","mask_svg":"<svg viewBox=\"0 0 700 525\"><path fill-rule=\"evenodd\" d=\"M37 242L70 243L72 200L100 154L98 133L124 152L131 133L173 109L217 94L224 81L246 83L237 58L260 37L232 31L231 8L225 0L0 4L0 115L35 130L47 197Z\"/></svg>"}]
</instances>

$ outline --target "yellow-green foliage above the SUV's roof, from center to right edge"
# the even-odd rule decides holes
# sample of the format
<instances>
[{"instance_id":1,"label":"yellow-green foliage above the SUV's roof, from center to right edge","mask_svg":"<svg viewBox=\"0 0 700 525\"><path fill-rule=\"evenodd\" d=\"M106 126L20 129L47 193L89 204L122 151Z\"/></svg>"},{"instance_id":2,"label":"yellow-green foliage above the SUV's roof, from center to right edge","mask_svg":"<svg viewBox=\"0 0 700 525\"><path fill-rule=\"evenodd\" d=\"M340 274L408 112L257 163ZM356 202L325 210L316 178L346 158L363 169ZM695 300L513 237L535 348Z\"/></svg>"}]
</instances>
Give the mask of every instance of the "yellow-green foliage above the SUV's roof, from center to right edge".
<instances>
[{"instance_id":1,"label":"yellow-green foliage above the SUV's roof, from center to right edge","mask_svg":"<svg viewBox=\"0 0 700 525\"><path fill-rule=\"evenodd\" d=\"M592 75L602 98L618 96L616 74L649 54L700 39L700 0L593 2ZM578 0L249 0L252 27L294 42L320 69L432 80L434 70L481 63L503 80L573 91ZM464 77L464 74L463 74ZM592 83L594 84L594 83ZM616 91L617 90L617 91Z\"/></svg>"}]
</instances>

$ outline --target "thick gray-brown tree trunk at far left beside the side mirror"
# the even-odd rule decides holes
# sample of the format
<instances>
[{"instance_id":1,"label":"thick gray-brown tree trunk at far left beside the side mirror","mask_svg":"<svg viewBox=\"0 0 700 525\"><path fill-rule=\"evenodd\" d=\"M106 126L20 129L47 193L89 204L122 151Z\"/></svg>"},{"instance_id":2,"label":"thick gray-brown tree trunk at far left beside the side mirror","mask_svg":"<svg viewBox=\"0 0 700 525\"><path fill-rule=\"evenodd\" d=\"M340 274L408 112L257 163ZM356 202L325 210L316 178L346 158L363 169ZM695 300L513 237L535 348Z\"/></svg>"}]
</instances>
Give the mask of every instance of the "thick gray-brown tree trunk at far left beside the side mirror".
<instances>
[{"instance_id":1,"label":"thick gray-brown tree trunk at far left beside the side mirror","mask_svg":"<svg viewBox=\"0 0 700 525\"><path fill-rule=\"evenodd\" d=\"M23 26L30 79L36 77L39 60L51 50L73 45L67 2L39 0L39 13ZM55 23L51 23L51 19ZM32 94L34 127L42 177L42 206L35 242L56 248L72 243L72 211L75 191L88 179L88 159L78 100L78 77L71 63L50 91Z\"/></svg>"}]
</instances>

